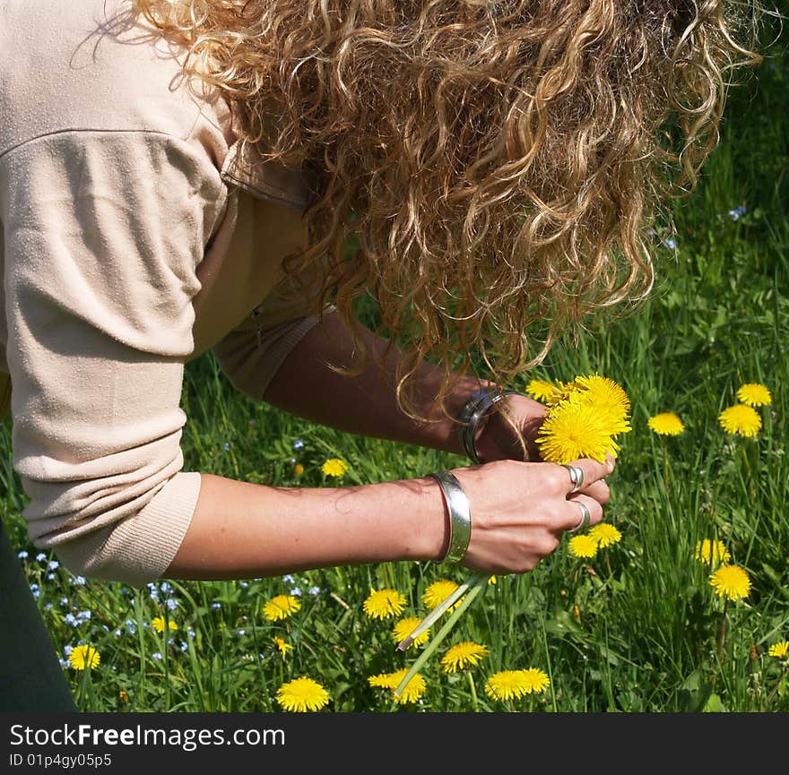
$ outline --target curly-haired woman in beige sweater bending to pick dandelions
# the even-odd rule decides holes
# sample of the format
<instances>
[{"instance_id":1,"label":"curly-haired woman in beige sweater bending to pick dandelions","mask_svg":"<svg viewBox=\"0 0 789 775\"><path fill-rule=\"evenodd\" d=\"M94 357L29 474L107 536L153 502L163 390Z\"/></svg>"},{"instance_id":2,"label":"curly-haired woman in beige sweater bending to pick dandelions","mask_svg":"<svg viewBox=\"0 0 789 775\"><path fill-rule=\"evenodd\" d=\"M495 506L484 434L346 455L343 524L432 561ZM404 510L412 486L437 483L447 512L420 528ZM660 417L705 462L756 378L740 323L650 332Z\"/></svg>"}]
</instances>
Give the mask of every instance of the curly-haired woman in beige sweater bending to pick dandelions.
<instances>
[{"instance_id":1,"label":"curly-haired woman in beige sweater bending to pick dandelions","mask_svg":"<svg viewBox=\"0 0 789 775\"><path fill-rule=\"evenodd\" d=\"M3 10L0 375L36 546L130 584L523 573L603 519L613 461L540 461L542 406L498 386L646 296L650 220L758 61L743 6ZM208 349L256 400L475 464L328 489L187 471Z\"/></svg>"}]
</instances>

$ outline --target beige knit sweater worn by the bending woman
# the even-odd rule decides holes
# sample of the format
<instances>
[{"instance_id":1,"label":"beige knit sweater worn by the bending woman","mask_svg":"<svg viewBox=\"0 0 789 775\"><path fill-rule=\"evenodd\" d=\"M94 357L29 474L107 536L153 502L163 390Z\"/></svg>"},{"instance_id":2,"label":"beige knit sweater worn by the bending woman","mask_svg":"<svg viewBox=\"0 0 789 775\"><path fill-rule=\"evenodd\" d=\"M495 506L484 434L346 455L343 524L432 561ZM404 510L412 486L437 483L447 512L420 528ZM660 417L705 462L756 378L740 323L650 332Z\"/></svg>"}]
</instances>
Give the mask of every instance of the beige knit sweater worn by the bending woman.
<instances>
[{"instance_id":1,"label":"beige knit sweater worn by the bending woman","mask_svg":"<svg viewBox=\"0 0 789 775\"><path fill-rule=\"evenodd\" d=\"M227 104L128 9L0 2L0 414L35 545L143 584L200 488L184 364L213 348L260 400L316 317L282 280L306 178L241 151Z\"/></svg>"}]
</instances>

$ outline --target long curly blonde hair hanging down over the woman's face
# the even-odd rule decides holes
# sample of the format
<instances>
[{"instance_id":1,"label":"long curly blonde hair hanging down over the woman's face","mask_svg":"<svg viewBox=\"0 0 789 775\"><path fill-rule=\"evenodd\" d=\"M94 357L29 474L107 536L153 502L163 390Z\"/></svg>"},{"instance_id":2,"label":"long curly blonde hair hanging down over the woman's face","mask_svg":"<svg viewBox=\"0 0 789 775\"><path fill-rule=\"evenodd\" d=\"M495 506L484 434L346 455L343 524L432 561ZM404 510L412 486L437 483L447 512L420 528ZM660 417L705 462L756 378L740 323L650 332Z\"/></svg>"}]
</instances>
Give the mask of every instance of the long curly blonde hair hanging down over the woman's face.
<instances>
[{"instance_id":1,"label":"long curly blonde hair hanging down over the woman's face","mask_svg":"<svg viewBox=\"0 0 789 775\"><path fill-rule=\"evenodd\" d=\"M356 339L505 384L654 280L647 229L718 140L759 9L728 0L134 0L245 142L316 181L310 244ZM349 245L355 245L349 250ZM623 304L624 303L624 304ZM421 419L426 419L421 417Z\"/></svg>"}]
</instances>

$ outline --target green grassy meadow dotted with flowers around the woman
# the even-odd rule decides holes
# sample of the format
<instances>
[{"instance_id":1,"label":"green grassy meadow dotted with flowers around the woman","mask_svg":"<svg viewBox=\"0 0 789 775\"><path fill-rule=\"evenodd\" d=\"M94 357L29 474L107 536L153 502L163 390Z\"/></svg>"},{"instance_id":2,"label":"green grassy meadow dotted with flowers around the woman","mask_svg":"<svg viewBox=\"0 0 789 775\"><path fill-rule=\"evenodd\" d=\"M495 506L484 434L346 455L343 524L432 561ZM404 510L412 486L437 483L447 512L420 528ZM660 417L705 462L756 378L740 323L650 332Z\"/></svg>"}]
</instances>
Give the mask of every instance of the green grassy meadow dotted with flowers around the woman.
<instances>
[{"instance_id":1,"label":"green grassy meadow dotted with flowers around the woman","mask_svg":"<svg viewBox=\"0 0 789 775\"><path fill-rule=\"evenodd\" d=\"M302 677L325 692L314 687L320 712L789 710L789 63L771 53L731 90L698 188L656 225L650 299L560 342L512 385L596 373L627 392L632 430L606 508L618 538L578 556L568 537L532 573L488 584L421 666L418 692L398 698L391 677L369 678L411 667L430 639L399 651L395 625L425 616L426 590L464 581L462 568L363 565L139 589L75 577L27 538L5 420L0 516L80 710L287 712L278 692ZM749 383L771 401L754 408L755 435L729 433L719 416ZM210 355L187 366L183 408L187 470L338 487L466 464L256 404ZM648 425L663 412L681 419L680 434ZM339 477L322 470L333 459L347 464ZM705 540L725 555L700 554ZM713 583L722 565L739 569L733 587ZM401 601L392 616L365 610L377 590ZM464 642L483 648L442 661ZM98 664L77 659L81 646ZM531 691L490 691L491 677L528 670L545 677Z\"/></svg>"}]
</instances>

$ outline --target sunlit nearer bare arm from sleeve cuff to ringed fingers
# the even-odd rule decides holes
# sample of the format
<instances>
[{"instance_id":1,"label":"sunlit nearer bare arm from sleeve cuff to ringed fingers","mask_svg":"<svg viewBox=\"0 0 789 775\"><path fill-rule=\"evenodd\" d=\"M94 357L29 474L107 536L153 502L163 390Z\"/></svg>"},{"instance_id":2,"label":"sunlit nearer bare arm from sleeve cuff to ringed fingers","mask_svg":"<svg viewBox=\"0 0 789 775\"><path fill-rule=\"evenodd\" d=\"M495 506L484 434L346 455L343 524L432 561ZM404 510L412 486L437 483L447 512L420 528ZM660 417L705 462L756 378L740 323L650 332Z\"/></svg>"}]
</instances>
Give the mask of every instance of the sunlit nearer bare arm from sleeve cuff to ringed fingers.
<instances>
[{"instance_id":1,"label":"sunlit nearer bare arm from sleeve cuff to ringed fingers","mask_svg":"<svg viewBox=\"0 0 789 775\"><path fill-rule=\"evenodd\" d=\"M524 573L559 546L578 503L603 519L614 462L577 461L587 485L572 493L553 463L494 461L455 469L472 512L464 567ZM195 515L166 578L243 579L336 565L438 560L448 515L432 478L360 487L267 487L204 474Z\"/></svg>"}]
</instances>

